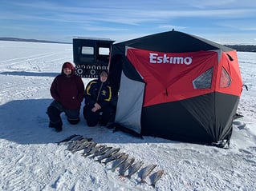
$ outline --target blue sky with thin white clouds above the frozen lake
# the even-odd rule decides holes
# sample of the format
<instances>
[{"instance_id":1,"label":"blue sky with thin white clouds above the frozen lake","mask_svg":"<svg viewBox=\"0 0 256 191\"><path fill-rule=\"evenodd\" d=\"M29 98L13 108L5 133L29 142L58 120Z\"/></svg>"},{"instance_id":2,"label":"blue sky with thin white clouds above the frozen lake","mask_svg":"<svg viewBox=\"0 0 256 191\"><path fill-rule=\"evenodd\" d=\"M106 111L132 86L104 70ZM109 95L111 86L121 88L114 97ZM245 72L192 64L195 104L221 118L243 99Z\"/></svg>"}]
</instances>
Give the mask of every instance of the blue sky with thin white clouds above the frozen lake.
<instances>
[{"instance_id":1,"label":"blue sky with thin white clouds above the frozen lake","mask_svg":"<svg viewBox=\"0 0 256 191\"><path fill-rule=\"evenodd\" d=\"M179 30L221 44L256 44L255 0L1 0L0 37L116 42Z\"/></svg>"}]
</instances>

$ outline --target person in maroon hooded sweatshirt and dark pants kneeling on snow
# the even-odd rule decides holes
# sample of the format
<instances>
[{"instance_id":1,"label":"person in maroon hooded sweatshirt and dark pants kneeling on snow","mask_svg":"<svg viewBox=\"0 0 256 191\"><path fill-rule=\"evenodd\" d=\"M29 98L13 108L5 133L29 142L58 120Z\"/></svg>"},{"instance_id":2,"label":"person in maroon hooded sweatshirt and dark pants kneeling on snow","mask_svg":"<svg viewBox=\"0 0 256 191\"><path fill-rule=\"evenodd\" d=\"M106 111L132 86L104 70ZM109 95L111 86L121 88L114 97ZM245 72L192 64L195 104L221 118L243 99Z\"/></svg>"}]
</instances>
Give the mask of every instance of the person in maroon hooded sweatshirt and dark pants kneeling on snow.
<instances>
[{"instance_id":1,"label":"person in maroon hooded sweatshirt and dark pants kneeling on snow","mask_svg":"<svg viewBox=\"0 0 256 191\"><path fill-rule=\"evenodd\" d=\"M67 121L75 125L79 123L79 110L83 101L84 85L79 76L75 75L75 68L70 62L63 64L59 74L51 84L51 96L54 101L47 108L50 118L49 127L57 132L62 131L63 121L60 113L65 113Z\"/></svg>"}]
</instances>

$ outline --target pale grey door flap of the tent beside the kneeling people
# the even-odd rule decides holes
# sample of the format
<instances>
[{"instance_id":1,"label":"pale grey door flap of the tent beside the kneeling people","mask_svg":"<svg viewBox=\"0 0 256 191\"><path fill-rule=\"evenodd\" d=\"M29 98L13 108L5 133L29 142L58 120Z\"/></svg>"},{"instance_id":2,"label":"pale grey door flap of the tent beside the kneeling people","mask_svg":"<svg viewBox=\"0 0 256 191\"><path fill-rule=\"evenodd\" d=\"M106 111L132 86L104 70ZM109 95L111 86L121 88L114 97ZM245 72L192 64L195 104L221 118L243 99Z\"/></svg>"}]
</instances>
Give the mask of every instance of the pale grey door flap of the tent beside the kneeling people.
<instances>
[{"instance_id":1,"label":"pale grey door flap of the tent beside the kneeling people","mask_svg":"<svg viewBox=\"0 0 256 191\"><path fill-rule=\"evenodd\" d=\"M121 74L120 92L116 106L116 123L140 133L144 83L134 81Z\"/></svg>"}]
</instances>

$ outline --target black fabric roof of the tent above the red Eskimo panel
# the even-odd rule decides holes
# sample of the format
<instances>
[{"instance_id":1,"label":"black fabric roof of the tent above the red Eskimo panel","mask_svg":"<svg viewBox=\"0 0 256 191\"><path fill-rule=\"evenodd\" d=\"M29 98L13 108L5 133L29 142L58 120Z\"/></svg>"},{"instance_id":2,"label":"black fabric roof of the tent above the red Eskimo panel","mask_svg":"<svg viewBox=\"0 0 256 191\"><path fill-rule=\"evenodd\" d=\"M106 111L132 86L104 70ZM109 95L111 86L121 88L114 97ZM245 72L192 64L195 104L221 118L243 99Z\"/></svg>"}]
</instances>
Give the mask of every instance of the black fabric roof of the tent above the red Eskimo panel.
<instances>
[{"instance_id":1,"label":"black fabric roof of the tent above the red Eskimo panel","mask_svg":"<svg viewBox=\"0 0 256 191\"><path fill-rule=\"evenodd\" d=\"M115 54L124 54L124 46L169 53L197 52L201 50L222 50L226 52L232 50L229 47L222 46L205 38L179 31L151 34L142 38L116 43L113 46L112 52Z\"/></svg>"}]
</instances>

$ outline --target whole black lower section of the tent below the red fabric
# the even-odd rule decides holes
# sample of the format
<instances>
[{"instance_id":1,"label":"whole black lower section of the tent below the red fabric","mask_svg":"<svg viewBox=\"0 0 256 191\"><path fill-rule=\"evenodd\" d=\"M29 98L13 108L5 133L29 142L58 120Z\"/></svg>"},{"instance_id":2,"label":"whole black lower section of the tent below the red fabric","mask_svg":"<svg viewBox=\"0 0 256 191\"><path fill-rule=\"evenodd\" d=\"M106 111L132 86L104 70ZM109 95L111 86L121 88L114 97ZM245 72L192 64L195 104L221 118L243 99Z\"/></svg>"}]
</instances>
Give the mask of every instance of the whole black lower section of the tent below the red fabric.
<instances>
[{"instance_id":1,"label":"whole black lower section of the tent below the red fabric","mask_svg":"<svg viewBox=\"0 0 256 191\"><path fill-rule=\"evenodd\" d=\"M144 107L141 134L209 145L230 141L238 101L230 94L212 93Z\"/></svg>"}]
</instances>

